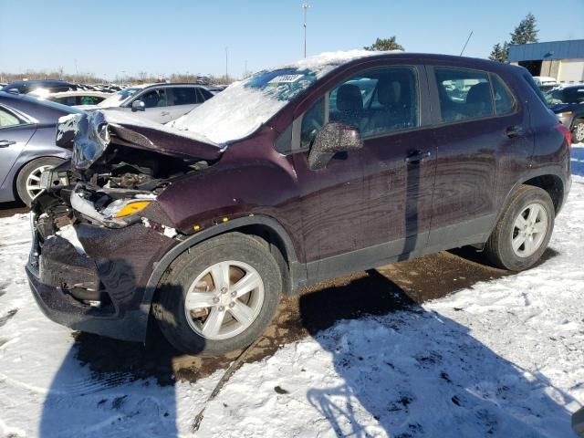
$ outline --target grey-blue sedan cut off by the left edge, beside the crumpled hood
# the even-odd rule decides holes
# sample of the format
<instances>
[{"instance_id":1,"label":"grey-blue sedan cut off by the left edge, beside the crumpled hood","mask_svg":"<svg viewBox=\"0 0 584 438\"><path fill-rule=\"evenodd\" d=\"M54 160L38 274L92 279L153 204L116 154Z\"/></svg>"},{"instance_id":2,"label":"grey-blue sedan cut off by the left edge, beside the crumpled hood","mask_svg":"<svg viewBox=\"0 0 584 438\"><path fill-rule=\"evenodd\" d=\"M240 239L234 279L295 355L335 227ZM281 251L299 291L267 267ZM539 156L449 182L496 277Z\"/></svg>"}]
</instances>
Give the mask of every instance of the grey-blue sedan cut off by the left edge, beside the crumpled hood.
<instances>
[{"instance_id":1,"label":"grey-blue sedan cut off by the left edge, beside the crumpled hood","mask_svg":"<svg viewBox=\"0 0 584 438\"><path fill-rule=\"evenodd\" d=\"M0 91L0 203L26 204L41 193L40 174L70 151L55 144L59 117L81 112L55 102Z\"/></svg>"}]
</instances>

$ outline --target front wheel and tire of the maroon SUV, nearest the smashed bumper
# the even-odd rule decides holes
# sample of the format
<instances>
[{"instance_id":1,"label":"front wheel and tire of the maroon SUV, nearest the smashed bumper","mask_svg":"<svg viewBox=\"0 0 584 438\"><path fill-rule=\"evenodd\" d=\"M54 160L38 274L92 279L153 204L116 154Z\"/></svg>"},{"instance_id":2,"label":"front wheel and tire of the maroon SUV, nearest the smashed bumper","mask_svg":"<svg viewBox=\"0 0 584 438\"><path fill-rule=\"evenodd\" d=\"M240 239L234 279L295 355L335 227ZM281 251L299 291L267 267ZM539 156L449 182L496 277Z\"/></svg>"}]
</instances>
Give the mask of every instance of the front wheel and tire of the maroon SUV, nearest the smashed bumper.
<instances>
[{"instance_id":1,"label":"front wheel and tire of the maroon SUV, nearest the smashed bumper","mask_svg":"<svg viewBox=\"0 0 584 438\"><path fill-rule=\"evenodd\" d=\"M225 272L227 282L222 279ZM237 289L245 276L257 286L235 297L245 290ZM193 290L195 284L200 288ZM247 347L264 332L276 314L281 291L282 275L269 247L252 236L228 233L194 246L172 263L152 314L174 348L188 354L220 355ZM218 315L223 315L223 323L213 324L221 318Z\"/></svg>"}]
</instances>

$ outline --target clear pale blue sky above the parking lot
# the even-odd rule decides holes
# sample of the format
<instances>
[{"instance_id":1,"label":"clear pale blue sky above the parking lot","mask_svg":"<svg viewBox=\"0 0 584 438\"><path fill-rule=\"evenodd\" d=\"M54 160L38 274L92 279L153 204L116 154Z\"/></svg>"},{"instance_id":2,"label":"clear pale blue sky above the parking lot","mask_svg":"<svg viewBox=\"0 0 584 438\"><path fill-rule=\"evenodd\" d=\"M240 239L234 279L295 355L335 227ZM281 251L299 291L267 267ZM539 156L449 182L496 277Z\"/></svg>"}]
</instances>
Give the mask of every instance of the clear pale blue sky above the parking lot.
<instances>
[{"instance_id":1,"label":"clear pale blue sky above the parking lot","mask_svg":"<svg viewBox=\"0 0 584 438\"><path fill-rule=\"evenodd\" d=\"M0 0L0 71L62 67L230 76L303 56L301 0ZM487 57L528 12L541 41L584 39L584 0L312 0L308 55L397 36L408 51Z\"/></svg>"}]
</instances>

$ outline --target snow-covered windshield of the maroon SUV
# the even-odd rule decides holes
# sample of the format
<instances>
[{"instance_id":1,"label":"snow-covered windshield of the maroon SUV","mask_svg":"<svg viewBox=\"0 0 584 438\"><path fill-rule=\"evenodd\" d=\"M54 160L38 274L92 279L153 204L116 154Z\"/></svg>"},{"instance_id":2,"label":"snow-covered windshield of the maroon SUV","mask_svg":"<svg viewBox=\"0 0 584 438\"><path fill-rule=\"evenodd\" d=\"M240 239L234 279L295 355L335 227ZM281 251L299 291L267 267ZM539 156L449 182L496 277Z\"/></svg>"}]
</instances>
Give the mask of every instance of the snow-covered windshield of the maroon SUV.
<instances>
[{"instance_id":1,"label":"snow-covered windshield of the maroon SUV","mask_svg":"<svg viewBox=\"0 0 584 438\"><path fill-rule=\"evenodd\" d=\"M235 82L168 126L196 132L218 144L245 138L332 69L349 59L375 54L361 50L328 52L286 67L262 70Z\"/></svg>"}]
</instances>

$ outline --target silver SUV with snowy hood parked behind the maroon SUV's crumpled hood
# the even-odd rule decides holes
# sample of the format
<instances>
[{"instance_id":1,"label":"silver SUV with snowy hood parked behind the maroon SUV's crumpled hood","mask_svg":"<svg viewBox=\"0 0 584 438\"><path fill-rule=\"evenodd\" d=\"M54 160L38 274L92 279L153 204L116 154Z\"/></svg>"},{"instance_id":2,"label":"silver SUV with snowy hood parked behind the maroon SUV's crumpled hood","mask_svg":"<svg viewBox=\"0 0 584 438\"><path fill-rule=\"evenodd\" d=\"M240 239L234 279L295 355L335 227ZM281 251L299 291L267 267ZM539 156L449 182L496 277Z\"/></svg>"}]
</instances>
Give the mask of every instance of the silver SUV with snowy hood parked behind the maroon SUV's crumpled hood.
<instances>
[{"instance_id":1,"label":"silver SUV with snowy hood parked behind the maroon SUV's crumpled hood","mask_svg":"<svg viewBox=\"0 0 584 438\"><path fill-rule=\"evenodd\" d=\"M213 98L221 89L198 84L144 84L122 89L99 105L78 107L82 110L120 110L133 112L145 119L166 123Z\"/></svg>"}]
</instances>

